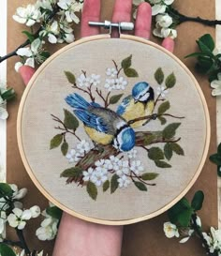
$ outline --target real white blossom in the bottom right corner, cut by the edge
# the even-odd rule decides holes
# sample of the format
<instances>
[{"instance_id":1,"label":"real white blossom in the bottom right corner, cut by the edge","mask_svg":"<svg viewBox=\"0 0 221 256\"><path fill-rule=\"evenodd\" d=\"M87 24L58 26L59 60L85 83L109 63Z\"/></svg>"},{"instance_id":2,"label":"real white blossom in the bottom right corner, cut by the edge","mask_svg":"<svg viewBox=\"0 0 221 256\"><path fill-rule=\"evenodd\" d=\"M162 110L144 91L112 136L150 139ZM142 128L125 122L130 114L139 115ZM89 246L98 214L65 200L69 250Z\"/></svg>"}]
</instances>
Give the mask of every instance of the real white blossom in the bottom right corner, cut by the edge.
<instances>
[{"instance_id":1,"label":"real white blossom in the bottom right corner, cut by the edge","mask_svg":"<svg viewBox=\"0 0 221 256\"><path fill-rule=\"evenodd\" d=\"M221 230L215 230L211 227L210 235L207 233L202 233L204 239L207 242L208 247L210 248L210 253L216 251L218 256L221 255Z\"/></svg>"}]
</instances>

